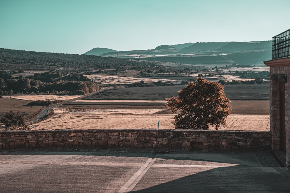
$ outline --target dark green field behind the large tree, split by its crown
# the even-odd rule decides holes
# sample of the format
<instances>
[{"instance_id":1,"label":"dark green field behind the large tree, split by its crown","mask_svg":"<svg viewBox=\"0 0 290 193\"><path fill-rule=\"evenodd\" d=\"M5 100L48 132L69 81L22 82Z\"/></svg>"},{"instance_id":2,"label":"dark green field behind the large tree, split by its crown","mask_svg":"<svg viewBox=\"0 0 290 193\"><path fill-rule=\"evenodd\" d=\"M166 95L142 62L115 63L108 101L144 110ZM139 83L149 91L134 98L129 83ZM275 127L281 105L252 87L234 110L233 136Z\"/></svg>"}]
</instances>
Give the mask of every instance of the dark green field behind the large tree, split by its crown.
<instances>
[{"instance_id":1,"label":"dark green field behind the large tree, split by its crown","mask_svg":"<svg viewBox=\"0 0 290 193\"><path fill-rule=\"evenodd\" d=\"M185 86L133 87L108 89L84 97L88 100L164 100L177 95ZM230 100L269 100L269 84L224 85L224 93Z\"/></svg>"}]
</instances>

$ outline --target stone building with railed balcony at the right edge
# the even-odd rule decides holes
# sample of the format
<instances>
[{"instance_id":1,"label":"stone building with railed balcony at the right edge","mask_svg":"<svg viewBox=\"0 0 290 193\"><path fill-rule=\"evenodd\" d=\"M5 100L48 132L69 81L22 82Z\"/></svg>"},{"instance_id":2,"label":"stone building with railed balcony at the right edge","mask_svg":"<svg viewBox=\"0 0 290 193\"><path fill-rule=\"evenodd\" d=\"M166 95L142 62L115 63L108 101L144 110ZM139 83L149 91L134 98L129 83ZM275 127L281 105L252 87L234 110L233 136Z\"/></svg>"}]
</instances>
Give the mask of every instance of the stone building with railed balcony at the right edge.
<instances>
[{"instance_id":1,"label":"stone building with railed balcony at the right edge","mask_svg":"<svg viewBox=\"0 0 290 193\"><path fill-rule=\"evenodd\" d=\"M272 149L286 154L290 167L290 29L273 37L270 67L270 130Z\"/></svg>"}]
</instances>

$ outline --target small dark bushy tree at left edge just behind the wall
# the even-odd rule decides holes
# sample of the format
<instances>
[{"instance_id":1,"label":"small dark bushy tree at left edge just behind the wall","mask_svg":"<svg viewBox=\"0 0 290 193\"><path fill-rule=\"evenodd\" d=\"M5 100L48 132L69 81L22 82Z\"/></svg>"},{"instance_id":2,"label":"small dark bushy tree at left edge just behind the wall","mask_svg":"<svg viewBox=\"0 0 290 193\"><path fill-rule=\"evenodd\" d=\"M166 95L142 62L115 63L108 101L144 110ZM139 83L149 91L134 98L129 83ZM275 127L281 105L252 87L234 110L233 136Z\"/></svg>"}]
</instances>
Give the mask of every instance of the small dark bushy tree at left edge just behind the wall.
<instances>
[{"instance_id":1,"label":"small dark bushy tree at left edge just behind the wall","mask_svg":"<svg viewBox=\"0 0 290 193\"><path fill-rule=\"evenodd\" d=\"M21 115L18 111L15 113L10 111L6 113L3 118L1 118L1 122L5 124L8 129L19 129L19 130L27 130L29 129L26 124L26 119L24 115Z\"/></svg>"}]
</instances>

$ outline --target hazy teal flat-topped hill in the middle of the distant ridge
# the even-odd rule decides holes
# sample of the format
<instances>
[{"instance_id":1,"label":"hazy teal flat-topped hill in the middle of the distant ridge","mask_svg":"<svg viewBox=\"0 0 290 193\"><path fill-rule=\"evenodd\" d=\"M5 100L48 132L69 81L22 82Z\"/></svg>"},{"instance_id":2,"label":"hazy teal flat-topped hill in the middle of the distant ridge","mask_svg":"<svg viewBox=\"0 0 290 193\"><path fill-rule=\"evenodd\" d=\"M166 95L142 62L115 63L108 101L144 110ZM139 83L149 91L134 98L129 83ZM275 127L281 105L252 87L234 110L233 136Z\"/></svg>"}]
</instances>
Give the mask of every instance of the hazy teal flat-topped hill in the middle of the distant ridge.
<instances>
[{"instance_id":1,"label":"hazy teal flat-topped hill in the middle of the distant ridge","mask_svg":"<svg viewBox=\"0 0 290 193\"><path fill-rule=\"evenodd\" d=\"M180 49L180 53L186 54L189 52L213 50L213 49L220 48L228 43L229 42L201 42L201 43L197 42L189 47L185 47L185 48Z\"/></svg>"}]
</instances>

